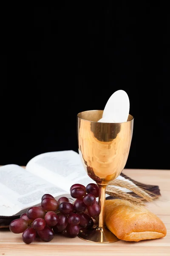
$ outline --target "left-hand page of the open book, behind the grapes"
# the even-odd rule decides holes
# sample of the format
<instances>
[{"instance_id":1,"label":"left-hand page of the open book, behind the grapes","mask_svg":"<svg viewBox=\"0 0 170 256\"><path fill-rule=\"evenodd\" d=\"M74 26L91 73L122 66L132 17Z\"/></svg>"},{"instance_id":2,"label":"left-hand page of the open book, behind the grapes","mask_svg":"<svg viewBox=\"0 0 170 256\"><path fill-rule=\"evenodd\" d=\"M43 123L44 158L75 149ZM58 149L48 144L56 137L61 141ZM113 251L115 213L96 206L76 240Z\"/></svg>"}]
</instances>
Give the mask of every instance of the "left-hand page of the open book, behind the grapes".
<instances>
[{"instance_id":1,"label":"left-hand page of the open book, behind the grapes","mask_svg":"<svg viewBox=\"0 0 170 256\"><path fill-rule=\"evenodd\" d=\"M0 167L0 215L14 215L21 209L40 204L42 195L68 194L64 189L27 172L18 165Z\"/></svg>"}]
</instances>

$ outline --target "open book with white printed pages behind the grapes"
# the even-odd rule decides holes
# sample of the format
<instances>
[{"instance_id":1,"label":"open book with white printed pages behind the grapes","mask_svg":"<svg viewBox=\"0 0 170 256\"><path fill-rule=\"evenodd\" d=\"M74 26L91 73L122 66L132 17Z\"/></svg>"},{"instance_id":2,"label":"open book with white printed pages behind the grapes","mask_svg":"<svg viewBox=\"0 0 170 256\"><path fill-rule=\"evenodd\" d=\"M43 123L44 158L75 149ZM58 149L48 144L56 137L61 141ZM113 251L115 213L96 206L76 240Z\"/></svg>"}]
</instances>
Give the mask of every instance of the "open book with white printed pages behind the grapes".
<instances>
[{"instance_id":1,"label":"open book with white printed pages behind the grapes","mask_svg":"<svg viewBox=\"0 0 170 256\"><path fill-rule=\"evenodd\" d=\"M26 169L15 164L1 166L0 215L21 215L29 207L40 205L44 194L56 199L66 196L73 202L70 187L75 183L87 186L95 181L85 172L79 154L72 150L37 155L27 163Z\"/></svg>"}]
</instances>

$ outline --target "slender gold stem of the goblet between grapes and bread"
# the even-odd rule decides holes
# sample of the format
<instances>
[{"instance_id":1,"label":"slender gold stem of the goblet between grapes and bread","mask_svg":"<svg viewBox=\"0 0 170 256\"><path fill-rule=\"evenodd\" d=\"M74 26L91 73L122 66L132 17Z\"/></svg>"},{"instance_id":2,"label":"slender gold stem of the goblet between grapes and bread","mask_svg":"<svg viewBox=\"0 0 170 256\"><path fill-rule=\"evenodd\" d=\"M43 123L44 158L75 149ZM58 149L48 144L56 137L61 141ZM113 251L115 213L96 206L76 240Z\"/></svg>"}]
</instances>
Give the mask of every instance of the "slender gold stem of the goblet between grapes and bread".
<instances>
[{"instance_id":1,"label":"slender gold stem of the goblet between grapes and bread","mask_svg":"<svg viewBox=\"0 0 170 256\"><path fill-rule=\"evenodd\" d=\"M97 228L102 230L105 227L105 192L107 185L97 184L99 186L99 206L100 206L100 215L98 217L98 226Z\"/></svg>"}]
</instances>

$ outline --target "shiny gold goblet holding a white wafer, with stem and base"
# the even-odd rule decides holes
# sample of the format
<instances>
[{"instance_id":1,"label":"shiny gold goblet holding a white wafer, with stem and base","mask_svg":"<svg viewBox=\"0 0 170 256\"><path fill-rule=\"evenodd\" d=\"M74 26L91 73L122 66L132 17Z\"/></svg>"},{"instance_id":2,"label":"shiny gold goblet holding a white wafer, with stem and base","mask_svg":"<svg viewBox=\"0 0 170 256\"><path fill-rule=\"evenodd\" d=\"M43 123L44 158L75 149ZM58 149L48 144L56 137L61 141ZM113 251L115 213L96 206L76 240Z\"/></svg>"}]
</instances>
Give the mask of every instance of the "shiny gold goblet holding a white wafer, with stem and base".
<instances>
[{"instance_id":1,"label":"shiny gold goblet holding a white wafer, with stem and base","mask_svg":"<svg viewBox=\"0 0 170 256\"><path fill-rule=\"evenodd\" d=\"M88 176L99 186L101 209L98 225L93 230L79 233L86 241L110 243L119 239L105 227L105 190L125 167L133 134L133 116L127 122L102 123L102 110L77 114L78 149Z\"/></svg>"}]
</instances>

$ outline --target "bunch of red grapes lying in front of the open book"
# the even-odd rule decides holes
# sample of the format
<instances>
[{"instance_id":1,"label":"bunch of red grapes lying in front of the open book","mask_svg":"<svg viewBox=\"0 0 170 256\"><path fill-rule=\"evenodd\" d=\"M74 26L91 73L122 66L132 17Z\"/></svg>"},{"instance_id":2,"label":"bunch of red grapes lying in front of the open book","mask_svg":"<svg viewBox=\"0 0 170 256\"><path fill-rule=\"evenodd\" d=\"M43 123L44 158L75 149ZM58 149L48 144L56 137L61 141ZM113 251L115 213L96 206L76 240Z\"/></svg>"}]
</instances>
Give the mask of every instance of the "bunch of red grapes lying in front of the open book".
<instances>
[{"instance_id":1,"label":"bunch of red grapes lying in front of the open book","mask_svg":"<svg viewBox=\"0 0 170 256\"><path fill-rule=\"evenodd\" d=\"M30 244L37 236L43 241L51 241L54 234L66 233L69 237L76 237L80 230L92 228L100 214L96 201L99 187L95 183L86 187L74 184L70 193L72 198L76 198L73 204L66 197L57 201L52 195L43 195L41 206L30 207L19 219L10 223L9 229L13 233L23 233L23 241Z\"/></svg>"}]
</instances>

